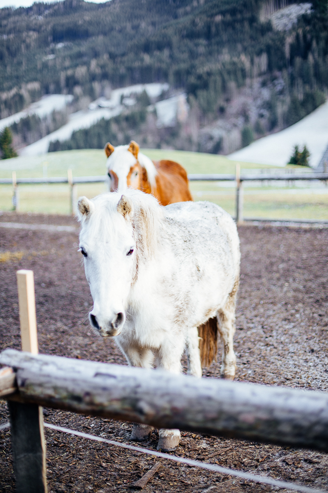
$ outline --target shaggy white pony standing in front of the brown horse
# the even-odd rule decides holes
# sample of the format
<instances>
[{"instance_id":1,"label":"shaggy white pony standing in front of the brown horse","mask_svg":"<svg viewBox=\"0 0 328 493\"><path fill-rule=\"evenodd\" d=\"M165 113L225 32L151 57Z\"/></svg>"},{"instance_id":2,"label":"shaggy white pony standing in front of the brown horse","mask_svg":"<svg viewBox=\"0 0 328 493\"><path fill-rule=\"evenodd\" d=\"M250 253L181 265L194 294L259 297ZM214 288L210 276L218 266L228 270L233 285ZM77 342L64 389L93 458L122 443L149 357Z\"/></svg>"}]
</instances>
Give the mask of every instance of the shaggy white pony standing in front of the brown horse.
<instances>
[{"instance_id":1,"label":"shaggy white pony standing in front of the brown horse","mask_svg":"<svg viewBox=\"0 0 328 493\"><path fill-rule=\"evenodd\" d=\"M78 201L80 251L93 298L91 325L115 336L128 363L201 377L197 327L217 317L221 374L233 379L235 304L240 250L236 225L209 202L160 206L128 189ZM151 427L134 425L132 439ZM174 450L179 430L160 430L158 449Z\"/></svg>"}]
</instances>

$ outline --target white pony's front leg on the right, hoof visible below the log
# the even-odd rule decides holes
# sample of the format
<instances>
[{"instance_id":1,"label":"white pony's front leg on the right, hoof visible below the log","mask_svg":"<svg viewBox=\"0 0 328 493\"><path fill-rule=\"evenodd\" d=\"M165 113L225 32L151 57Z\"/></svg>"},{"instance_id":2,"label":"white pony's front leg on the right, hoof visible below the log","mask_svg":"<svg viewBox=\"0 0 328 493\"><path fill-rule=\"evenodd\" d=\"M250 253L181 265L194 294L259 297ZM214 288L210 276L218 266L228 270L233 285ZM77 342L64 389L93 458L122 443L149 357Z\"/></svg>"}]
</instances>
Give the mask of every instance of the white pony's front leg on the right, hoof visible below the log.
<instances>
[{"instance_id":1,"label":"white pony's front leg on the right, hoof visible below the log","mask_svg":"<svg viewBox=\"0 0 328 493\"><path fill-rule=\"evenodd\" d=\"M181 373L181 356L184 349L184 341L181 337L174 340L174 344L166 344L162 346L157 354L158 368L170 371L171 373ZM159 440L157 450L170 452L175 450L180 443L180 430L175 428L158 430Z\"/></svg>"}]
</instances>

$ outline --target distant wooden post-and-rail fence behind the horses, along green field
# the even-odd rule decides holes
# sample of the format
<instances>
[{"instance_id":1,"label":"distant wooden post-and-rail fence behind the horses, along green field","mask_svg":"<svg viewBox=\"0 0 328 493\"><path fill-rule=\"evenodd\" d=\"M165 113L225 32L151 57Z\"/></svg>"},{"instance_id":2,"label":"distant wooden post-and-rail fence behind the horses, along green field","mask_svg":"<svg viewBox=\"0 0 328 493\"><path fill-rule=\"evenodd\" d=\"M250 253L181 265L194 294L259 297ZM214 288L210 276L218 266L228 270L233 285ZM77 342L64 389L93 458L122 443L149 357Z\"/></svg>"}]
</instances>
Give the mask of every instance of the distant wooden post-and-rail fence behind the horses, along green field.
<instances>
[{"instance_id":1,"label":"distant wooden post-and-rail fence behind the horses, along green field","mask_svg":"<svg viewBox=\"0 0 328 493\"><path fill-rule=\"evenodd\" d=\"M222 175L222 174L192 174L188 175L190 182L236 182L236 216L235 219L238 224L247 220L266 220L261 218L246 218L244 217L244 182L294 182L294 181L324 181L328 182L328 173L245 173L241 175L240 166L236 167L236 175ZM12 184L14 189L13 205L15 210L19 210L19 185L20 184L51 184L51 183L67 183L70 186L70 211L75 213L77 203L77 189L76 186L82 183L105 183L107 181L106 176L91 176L91 177L74 177L72 171L68 170L67 177L55 177L55 178L16 178L16 172L13 172L12 178L0 179L0 184ZM326 223L325 220L293 220L294 222L316 222Z\"/></svg>"}]
</instances>

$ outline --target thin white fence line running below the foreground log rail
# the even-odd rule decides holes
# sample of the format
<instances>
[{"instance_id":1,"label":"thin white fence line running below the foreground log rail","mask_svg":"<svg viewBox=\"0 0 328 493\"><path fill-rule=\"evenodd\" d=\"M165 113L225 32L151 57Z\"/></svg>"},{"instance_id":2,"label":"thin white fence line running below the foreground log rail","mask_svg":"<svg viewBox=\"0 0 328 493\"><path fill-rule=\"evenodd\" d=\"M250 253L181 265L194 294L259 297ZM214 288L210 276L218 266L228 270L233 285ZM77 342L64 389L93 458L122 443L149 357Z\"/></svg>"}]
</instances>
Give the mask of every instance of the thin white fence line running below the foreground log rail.
<instances>
[{"instance_id":1,"label":"thin white fence line running below the foreground log rail","mask_svg":"<svg viewBox=\"0 0 328 493\"><path fill-rule=\"evenodd\" d=\"M0 425L0 430L4 430L10 427L10 423ZM289 481L283 481L281 479L274 479L270 476L261 476L259 474L251 474L249 472L239 471L236 469L230 469L216 464L209 464L197 460L187 459L185 457L179 457L177 455L166 454L158 452L157 450L147 449L144 447L138 447L136 445L130 445L127 443L116 442L115 440L107 440L106 438L97 437L95 435L89 435L88 433L79 432L77 430L71 430L70 428L64 428L62 426L52 425L51 423L44 423L45 428L49 428L54 431L66 433L71 436L85 438L87 440L93 440L96 442L106 443L107 445L113 445L115 447L121 447L134 452L140 452L142 454L153 455L162 459L172 460L174 462L180 462L191 467L199 467L200 469L206 469L212 472L219 472L221 474L227 474L229 476L238 477L240 479L246 479L248 481L254 481L261 484L268 484L270 486L276 486L278 488L291 489L293 491L301 491L302 493L328 493L326 490L309 488L308 486L302 486L301 484L291 483Z\"/></svg>"}]
</instances>

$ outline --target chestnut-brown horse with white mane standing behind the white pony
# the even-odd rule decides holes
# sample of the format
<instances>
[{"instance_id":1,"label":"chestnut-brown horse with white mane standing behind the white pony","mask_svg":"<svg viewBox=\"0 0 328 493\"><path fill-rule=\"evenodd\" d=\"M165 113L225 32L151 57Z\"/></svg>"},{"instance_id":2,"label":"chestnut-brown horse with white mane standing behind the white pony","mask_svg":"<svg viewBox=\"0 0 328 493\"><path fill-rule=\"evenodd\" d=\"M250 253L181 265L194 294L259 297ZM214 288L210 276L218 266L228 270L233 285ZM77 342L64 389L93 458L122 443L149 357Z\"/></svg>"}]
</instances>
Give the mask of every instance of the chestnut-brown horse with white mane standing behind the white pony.
<instances>
[{"instance_id":1,"label":"chestnut-brown horse with white mane standing behind the white pony","mask_svg":"<svg viewBox=\"0 0 328 493\"><path fill-rule=\"evenodd\" d=\"M162 205L192 200L187 173L179 163L167 159L152 161L139 152L134 140L116 148L107 142L104 151L111 192L134 188L153 194Z\"/></svg>"}]
</instances>

